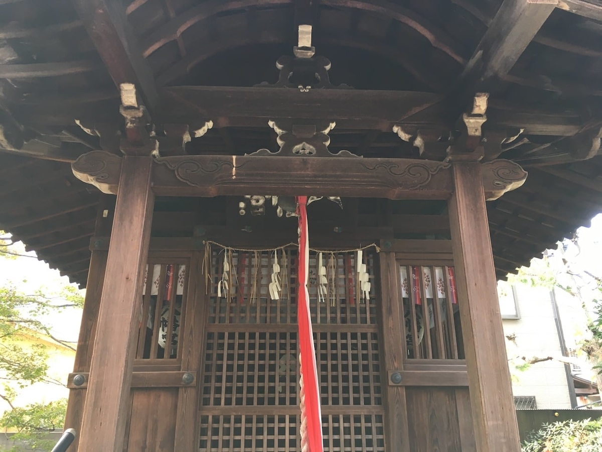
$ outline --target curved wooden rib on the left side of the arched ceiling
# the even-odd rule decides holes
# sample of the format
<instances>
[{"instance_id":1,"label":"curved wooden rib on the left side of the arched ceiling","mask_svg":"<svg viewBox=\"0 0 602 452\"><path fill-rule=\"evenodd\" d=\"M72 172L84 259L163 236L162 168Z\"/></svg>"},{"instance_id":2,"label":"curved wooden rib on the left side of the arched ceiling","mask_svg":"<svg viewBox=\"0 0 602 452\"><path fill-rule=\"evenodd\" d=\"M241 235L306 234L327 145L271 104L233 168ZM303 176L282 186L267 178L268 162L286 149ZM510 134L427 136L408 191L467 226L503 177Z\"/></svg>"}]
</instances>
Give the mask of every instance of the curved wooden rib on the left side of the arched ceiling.
<instances>
[{"instance_id":1,"label":"curved wooden rib on the left side of the arched ceiling","mask_svg":"<svg viewBox=\"0 0 602 452\"><path fill-rule=\"evenodd\" d=\"M292 0L262 0L261 6L277 6L292 4ZM142 54L144 57L149 56L163 46L164 44L178 39L178 37L192 27L200 20L207 19L208 17L216 14L225 13L227 11L240 10L242 8L250 8L257 6L256 0L235 0L235 1L224 1L224 0L209 0L202 2L196 7L191 8L179 16L174 17L167 24L160 27L154 33L151 33L141 43Z\"/></svg>"}]
</instances>

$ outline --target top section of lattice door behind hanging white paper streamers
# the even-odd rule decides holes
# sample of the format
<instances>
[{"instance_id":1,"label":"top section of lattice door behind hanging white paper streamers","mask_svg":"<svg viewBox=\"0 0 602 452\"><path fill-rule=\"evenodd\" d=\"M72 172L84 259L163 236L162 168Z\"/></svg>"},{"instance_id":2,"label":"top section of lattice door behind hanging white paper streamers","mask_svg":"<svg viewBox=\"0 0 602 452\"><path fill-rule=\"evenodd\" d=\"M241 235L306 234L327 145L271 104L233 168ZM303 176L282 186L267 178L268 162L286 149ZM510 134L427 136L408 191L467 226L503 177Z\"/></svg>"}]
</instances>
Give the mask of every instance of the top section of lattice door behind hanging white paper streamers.
<instances>
[{"instance_id":1,"label":"top section of lattice door behind hanging white paper streamers","mask_svg":"<svg viewBox=\"0 0 602 452\"><path fill-rule=\"evenodd\" d=\"M209 324L296 324L297 323L297 254L231 251L226 256L229 290L218 297L223 278L224 253L212 254ZM276 254L278 257L276 257ZM374 256L364 253L371 290L366 300L359 289L354 253L323 253L327 294L318 299L318 255L309 256L308 292L312 323L376 325L376 281ZM272 266L281 267L281 293L278 300L269 295Z\"/></svg>"}]
</instances>

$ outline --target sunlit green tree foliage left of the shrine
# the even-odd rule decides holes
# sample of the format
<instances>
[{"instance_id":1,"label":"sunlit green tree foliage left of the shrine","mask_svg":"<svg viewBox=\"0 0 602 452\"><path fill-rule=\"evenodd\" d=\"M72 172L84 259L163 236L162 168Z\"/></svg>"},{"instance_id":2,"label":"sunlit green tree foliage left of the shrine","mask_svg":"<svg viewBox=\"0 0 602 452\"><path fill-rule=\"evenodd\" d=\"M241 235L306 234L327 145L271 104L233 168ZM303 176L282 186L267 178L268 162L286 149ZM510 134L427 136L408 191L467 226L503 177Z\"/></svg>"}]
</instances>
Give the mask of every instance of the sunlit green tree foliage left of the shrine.
<instances>
[{"instance_id":1,"label":"sunlit green tree foliage left of the shrine","mask_svg":"<svg viewBox=\"0 0 602 452\"><path fill-rule=\"evenodd\" d=\"M5 236L1 235L6 243ZM7 249L8 248L8 249ZM2 246L0 259L14 259L22 254L14 246ZM19 258L20 259L20 258ZM60 431L66 410L66 400L48 404L33 403L25 407L13 402L19 389L38 382L61 385L48 375L48 350L43 344L31 344L32 335L50 337L64 347L73 348L55 337L45 324L45 317L67 307L81 307L83 297L73 286L64 285L54 292L39 289L31 294L20 292L14 285L0 287L0 403L8 408L0 418L0 428L16 431L13 439L28 448L51 450L48 432ZM18 451L14 447L13 451Z\"/></svg>"}]
</instances>

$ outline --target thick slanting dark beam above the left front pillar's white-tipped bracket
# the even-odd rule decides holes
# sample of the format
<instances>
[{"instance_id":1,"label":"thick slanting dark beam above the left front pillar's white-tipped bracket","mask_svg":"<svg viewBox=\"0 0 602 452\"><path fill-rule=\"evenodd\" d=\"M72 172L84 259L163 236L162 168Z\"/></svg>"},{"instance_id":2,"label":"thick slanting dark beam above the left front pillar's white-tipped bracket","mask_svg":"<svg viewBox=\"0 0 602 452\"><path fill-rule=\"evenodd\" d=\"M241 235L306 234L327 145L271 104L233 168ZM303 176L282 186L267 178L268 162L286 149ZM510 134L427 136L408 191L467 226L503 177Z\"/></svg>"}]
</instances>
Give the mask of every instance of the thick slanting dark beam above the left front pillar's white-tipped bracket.
<instances>
[{"instance_id":1,"label":"thick slanting dark beam above the left front pillar's white-tipped bracket","mask_svg":"<svg viewBox=\"0 0 602 452\"><path fill-rule=\"evenodd\" d=\"M149 112L158 104L151 66L144 59L122 2L72 0L115 85L134 83Z\"/></svg>"}]
</instances>

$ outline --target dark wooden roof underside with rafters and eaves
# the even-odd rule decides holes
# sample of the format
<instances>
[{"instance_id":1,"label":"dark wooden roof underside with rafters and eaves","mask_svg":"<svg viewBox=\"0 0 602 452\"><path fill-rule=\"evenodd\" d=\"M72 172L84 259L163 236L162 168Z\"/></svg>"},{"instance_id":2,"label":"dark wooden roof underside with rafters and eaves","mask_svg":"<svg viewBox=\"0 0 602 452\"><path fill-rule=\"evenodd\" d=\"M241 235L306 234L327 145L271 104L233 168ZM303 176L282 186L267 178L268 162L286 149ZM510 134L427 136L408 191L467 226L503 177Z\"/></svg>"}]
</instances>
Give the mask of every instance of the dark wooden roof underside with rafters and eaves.
<instances>
[{"instance_id":1,"label":"dark wooden roof underside with rafters and eaves","mask_svg":"<svg viewBox=\"0 0 602 452\"><path fill-rule=\"evenodd\" d=\"M73 177L69 163L102 143L75 119L120 124L121 81L137 83L151 110L160 110L157 99L167 86L274 83L276 58L291 54L295 25L309 22L318 54L332 62L334 84L442 95L433 108L451 124L424 126L432 109L412 118L432 139L423 158L445 157L436 142L452 130L467 92L478 87L491 93L485 136L520 133L497 153L529 171L520 190L488 206L503 277L587 225L602 206L596 142L602 126L602 5L562 2L507 70L503 61L491 60L479 64L495 69L493 77L479 64L474 69L470 62L489 42L488 28L498 27L500 7L520 3L0 0L0 124L5 130L15 125L25 140L18 150L0 148L0 228L85 284L100 196ZM520 37L521 30L511 31ZM417 147L382 127L340 127L330 136L334 151L420 157ZM268 127L218 124L188 143L187 152L244 154L277 147Z\"/></svg>"}]
</instances>

